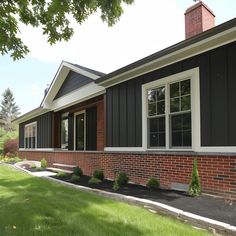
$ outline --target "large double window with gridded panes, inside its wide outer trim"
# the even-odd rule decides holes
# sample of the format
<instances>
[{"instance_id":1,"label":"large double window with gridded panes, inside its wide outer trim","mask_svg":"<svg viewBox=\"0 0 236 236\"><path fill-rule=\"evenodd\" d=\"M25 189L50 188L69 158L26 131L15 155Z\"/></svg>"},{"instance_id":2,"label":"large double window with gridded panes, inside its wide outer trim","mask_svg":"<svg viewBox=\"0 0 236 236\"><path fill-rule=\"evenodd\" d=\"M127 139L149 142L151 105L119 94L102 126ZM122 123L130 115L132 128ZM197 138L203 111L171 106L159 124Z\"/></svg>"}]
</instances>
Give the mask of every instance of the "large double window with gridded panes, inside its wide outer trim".
<instances>
[{"instance_id":1,"label":"large double window with gridded panes, inside its wide outer trim","mask_svg":"<svg viewBox=\"0 0 236 236\"><path fill-rule=\"evenodd\" d=\"M147 90L149 148L192 146L191 79Z\"/></svg>"}]
</instances>

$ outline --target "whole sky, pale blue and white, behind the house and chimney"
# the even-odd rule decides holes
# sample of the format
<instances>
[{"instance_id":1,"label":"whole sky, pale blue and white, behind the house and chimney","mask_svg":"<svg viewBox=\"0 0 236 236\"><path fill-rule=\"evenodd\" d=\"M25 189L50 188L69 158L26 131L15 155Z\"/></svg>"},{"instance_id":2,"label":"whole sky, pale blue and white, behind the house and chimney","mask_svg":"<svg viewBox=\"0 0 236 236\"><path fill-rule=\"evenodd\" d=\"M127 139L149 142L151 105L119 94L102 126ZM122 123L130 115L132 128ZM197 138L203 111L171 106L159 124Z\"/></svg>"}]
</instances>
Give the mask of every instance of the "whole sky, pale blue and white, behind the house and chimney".
<instances>
[{"instance_id":1,"label":"whole sky, pale blue and white, behind the house and chimney","mask_svg":"<svg viewBox=\"0 0 236 236\"><path fill-rule=\"evenodd\" d=\"M216 25L235 17L235 0L205 0L216 15ZM25 59L0 56L0 94L10 88L21 112L39 106L43 91L62 60L102 72L111 72L184 39L184 12L192 0L136 0L124 7L112 28L98 14L83 25L73 22L75 35L69 42L49 46L40 29L21 26L29 46ZM1 98L0 98L1 100Z\"/></svg>"}]
</instances>

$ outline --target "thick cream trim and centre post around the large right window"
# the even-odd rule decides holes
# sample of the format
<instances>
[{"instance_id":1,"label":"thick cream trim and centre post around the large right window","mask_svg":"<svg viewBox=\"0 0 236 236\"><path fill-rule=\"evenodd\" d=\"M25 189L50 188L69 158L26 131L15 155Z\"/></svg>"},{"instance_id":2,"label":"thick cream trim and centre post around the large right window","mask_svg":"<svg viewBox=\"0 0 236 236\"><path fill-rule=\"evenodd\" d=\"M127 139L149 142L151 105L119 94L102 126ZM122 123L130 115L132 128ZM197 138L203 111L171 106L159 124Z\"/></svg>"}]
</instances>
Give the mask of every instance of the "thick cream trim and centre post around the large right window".
<instances>
[{"instance_id":1,"label":"thick cream trim and centre post around the large right window","mask_svg":"<svg viewBox=\"0 0 236 236\"><path fill-rule=\"evenodd\" d=\"M191 148L171 148L169 132L169 116L166 114L166 147L148 148L148 130L147 130L147 91L151 88L167 85L165 108L169 107L169 84L185 79L191 79L191 114L192 114L192 147ZM199 68L187 70L162 79L152 81L142 85L142 146L148 151L195 151L200 148L200 86L199 86Z\"/></svg>"}]
</instances>

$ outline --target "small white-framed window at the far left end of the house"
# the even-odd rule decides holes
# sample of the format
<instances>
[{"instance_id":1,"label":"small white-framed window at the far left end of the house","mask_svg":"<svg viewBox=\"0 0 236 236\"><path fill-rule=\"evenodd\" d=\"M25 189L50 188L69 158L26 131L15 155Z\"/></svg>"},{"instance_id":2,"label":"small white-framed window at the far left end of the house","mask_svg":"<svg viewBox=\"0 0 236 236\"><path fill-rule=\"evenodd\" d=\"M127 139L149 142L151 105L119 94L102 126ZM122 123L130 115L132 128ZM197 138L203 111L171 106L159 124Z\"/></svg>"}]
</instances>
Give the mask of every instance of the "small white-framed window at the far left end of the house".
<instances>
[{"instance_id":1,"label":"small white-framed window at the far left end of the house","mask_svg":"<svg viewBox=\"0 0 236 236\"><path fill-rule=\"evenodd\" d=\"M25 148L37 147L37 123L33 122L25 125Z\"/></svg>"}]
</instances>

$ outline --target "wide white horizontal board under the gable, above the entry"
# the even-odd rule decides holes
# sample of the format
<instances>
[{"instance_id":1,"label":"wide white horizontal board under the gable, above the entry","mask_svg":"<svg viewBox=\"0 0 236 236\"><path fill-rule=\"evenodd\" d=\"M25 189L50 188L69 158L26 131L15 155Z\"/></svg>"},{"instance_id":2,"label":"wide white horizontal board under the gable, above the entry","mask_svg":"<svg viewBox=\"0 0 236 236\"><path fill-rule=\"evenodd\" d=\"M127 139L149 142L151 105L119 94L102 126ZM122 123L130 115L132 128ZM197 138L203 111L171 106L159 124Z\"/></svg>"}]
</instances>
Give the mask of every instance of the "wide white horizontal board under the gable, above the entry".
<instances>
[{"instance_id":1,"label":"wide white horizontal board under the gable, above the entry","mask_svg":"<svg viewBox=\"0 0 236 236\"><path fill-rule=\"evenodd\" d=\"M85 100L88 100L104 93L105 89L102 86L99 86L92 82L71 93L68 93L67 95L64 95L54 100L51 104L51 110L59 111L61 109L72 106L79 102L83 102Z\"/></svg>"}]
</instances>

